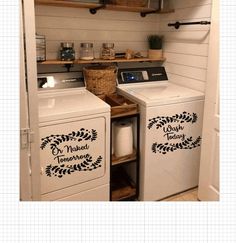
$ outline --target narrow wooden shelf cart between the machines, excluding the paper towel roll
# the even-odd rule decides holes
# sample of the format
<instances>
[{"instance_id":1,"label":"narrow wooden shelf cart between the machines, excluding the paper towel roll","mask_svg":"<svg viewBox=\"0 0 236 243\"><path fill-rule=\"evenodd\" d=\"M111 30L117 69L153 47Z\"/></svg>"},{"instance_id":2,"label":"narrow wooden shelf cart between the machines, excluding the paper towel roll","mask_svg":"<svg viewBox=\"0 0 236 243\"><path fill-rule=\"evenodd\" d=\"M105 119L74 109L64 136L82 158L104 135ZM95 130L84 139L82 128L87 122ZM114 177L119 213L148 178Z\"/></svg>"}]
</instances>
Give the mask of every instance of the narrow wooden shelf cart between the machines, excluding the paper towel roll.
<instances>
[{"instance_id":1,"label":"narrow wooden shelf cart between the machines, excluding the paper towel roll","mask_svg":"<svg viewBox=\"0 0 236 243\"><path fill-rule=\"evenodd\" d=\"M132 120L135 124L134 149L132 154L116 157L112 155L111 146L111 176L110 176L110 200L137 200L139 196L139 111L138 105L127 98L118 95L100 96L111 106L111 144L112 124L117 121Z\"/></svg>"}]
</instances>

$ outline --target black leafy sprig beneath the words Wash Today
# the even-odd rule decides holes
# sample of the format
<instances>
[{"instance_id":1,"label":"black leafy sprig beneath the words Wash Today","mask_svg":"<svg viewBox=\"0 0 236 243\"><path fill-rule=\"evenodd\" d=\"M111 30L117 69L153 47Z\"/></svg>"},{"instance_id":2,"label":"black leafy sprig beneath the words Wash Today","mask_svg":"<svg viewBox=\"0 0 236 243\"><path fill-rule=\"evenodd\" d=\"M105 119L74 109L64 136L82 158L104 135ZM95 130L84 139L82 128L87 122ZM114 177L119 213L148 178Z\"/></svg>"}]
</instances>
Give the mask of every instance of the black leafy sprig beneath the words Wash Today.
<instances>
[{"instance_id":1,"label":"black leafy sprig beneath the words Wash Today","mask_svg":"<svg viewBox=\"0 0 236 243\"><path fill-rule=\"evenodd\" d=\"M185 139L182 143L153 143L152 152L166 154L167 152L174 152L177 149L193 149L201 145L201 137L199 136L195 141L192 137Z\"/></svg>"}]
</instances>

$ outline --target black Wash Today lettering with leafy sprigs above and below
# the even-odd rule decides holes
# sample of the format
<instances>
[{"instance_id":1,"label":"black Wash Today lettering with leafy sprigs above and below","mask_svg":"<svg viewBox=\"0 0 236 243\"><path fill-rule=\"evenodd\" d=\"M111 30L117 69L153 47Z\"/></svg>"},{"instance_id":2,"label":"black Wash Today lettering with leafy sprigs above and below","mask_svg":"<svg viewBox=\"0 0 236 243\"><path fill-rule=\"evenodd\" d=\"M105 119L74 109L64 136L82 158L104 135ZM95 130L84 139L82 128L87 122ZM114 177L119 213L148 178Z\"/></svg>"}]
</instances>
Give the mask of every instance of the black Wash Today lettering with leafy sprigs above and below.
<instances>
[{"instance_id":1,"label":"black Wash Today lettering with leafy sprigs above and below","mask_svg":"<svg viewBox=\"0 0 236 243\"><path fill-rule=\"evenodd\" d=\"M165 143L153 143L152 152L166 154L174 152L178 149L193 149L201 145L201 137L193 138L184 133L184 123L196 123L198 116L196 113L188 113L186 111L173 116L158 116L149 119L148 129L161 129ZM177 140L177 142L176 142Z\"/></svg>"}]
</instances>

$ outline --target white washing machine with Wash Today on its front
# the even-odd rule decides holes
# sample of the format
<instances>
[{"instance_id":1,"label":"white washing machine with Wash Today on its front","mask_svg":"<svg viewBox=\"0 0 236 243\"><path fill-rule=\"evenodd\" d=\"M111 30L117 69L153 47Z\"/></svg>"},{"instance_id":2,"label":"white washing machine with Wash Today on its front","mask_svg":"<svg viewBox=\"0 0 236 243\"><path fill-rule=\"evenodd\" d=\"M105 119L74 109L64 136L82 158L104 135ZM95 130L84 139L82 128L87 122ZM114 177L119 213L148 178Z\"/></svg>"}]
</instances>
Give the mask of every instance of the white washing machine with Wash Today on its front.
<instances>
[{"instance_id":1,"label":"white washing machine with Wash Today on its front","mask_svg":"<svg viewBox=\"0 0 236 243\"><path fill-rule=\"evenodd\" d=\"M168 82L164 67L119 70L118 93L140 108L140 200L196 187L204 95Z\"/></svg>"}]
</instances>

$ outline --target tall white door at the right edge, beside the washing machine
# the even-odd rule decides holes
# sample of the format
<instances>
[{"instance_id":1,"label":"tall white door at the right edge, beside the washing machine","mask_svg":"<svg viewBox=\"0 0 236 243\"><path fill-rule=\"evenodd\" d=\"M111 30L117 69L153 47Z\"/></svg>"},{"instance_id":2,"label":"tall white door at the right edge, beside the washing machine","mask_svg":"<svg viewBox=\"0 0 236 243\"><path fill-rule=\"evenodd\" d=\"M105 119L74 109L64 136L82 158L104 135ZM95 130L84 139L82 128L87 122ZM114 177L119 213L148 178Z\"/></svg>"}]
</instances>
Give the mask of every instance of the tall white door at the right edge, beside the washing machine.
<instances>
[{"instance_id":1,"label":"tall white door at the right edge, beside the washing machine","mask_svg":"<svg viewBox=\"0 0 236 243\"><path fill-rule=\"evenodd\" d=\"M211 127L214 126L219 128L219 116L217 117L215 115L216 110L219 110L219 39L219 1L212 0L211 32L203 120L203 142L198 190L199 199L207 201L219 200L219 192L210 185L212 177L212 161L210 159L214 151L213 148L210 150L208 149L209 144L213 146L216 142L213 140L212 133L209 131L209 125L211 124ZM207 149L208 151L205 151L204 149Z\"/></svg>"}]
</instances>

